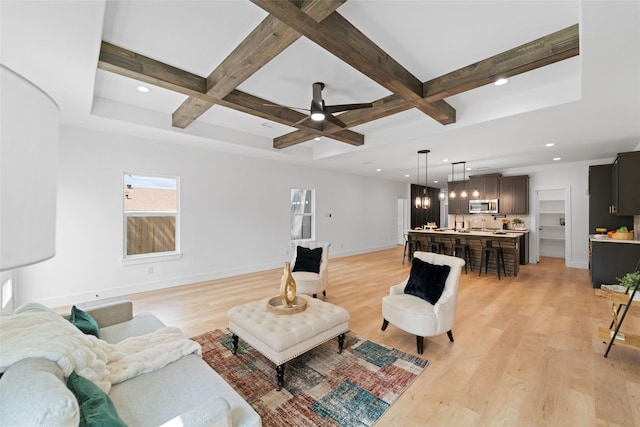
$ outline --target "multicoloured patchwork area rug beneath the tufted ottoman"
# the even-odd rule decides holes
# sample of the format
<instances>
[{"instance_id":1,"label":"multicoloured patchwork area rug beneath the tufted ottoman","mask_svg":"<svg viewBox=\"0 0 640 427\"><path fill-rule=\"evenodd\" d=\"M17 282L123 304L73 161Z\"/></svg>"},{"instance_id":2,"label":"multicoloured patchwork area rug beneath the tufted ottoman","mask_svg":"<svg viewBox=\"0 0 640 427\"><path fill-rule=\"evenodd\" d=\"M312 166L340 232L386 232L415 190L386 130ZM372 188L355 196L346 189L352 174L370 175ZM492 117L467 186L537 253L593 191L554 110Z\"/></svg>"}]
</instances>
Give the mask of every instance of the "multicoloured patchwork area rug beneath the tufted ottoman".
<instances>
[{"instance_id":1,"label":"multicoloured patchwork area rug beneath the tufted ottoman","mask_svg":"<svg viewBox=\"0 0 640 427\"><path fill-rule=\"evenodd\" d=\"M271 426L371 426L424 371L428 361L351 333L286 363L276 391L273 362L216 329L194 337L203 359Z\"/></svg>"}]
</instances>

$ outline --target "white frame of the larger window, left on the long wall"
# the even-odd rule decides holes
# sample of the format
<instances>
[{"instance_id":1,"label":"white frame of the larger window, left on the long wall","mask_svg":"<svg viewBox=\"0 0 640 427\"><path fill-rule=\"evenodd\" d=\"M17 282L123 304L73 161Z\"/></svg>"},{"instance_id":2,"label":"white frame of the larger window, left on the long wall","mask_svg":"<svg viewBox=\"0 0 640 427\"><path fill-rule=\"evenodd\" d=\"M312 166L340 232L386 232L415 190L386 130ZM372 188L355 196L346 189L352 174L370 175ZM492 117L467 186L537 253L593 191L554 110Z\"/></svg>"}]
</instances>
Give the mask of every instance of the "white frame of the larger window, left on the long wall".
<instances>
[{"instance_id":1,"label":"white frame of the larger window, left on the long wall","mask_svg":"<svg viewBox=\"0 0 640 427\"><path fill-rule=\"evenodd\" d=\"M136 175L142 177L150 177L150 178L164 178L164 179L175 179L176 180L176 212L173 211L125 211L124 209L124 199L126 186L124 185L123 180L123 194L122 194L122 264L123 265L134 265L134 264L144 264L150 262L159 262L159 261L172 261L182 258L182 252L180 250L180 177L177 176L162 176L157 174L141 174L141 173L127 173L125 172L123 178L126 175ZM165 252L150 252L145 254L135 254L128 255L127 254L127 219L131 216L173 216L175 217L175 250L173 251L165 251Z\"/></svg>"}]
</instances>

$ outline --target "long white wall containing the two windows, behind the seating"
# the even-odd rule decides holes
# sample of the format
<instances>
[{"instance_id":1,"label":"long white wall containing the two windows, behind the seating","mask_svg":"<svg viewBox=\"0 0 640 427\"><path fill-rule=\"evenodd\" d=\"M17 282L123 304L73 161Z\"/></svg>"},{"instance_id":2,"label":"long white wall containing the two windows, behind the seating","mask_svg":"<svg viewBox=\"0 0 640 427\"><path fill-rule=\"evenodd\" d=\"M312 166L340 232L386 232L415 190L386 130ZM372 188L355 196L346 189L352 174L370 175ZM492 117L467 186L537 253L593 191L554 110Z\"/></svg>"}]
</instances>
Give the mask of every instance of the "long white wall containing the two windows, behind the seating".
<instances>
[{"instance_id":1,"label":"long white wall containing the two windows, behind the seating","mask_svg":"<svg viewBox=\"0 0 640 427\"><path fill-rule=\"evenodd\" d=\"M124 172L180 177L182 259L122 264ZM406 184L62 127L56 256L18 271L18 303L67 305L280 267L291 258L292 187L316 189L316 238L332 243L331 257L396 245Z\"/></svg>"}]
</instances>

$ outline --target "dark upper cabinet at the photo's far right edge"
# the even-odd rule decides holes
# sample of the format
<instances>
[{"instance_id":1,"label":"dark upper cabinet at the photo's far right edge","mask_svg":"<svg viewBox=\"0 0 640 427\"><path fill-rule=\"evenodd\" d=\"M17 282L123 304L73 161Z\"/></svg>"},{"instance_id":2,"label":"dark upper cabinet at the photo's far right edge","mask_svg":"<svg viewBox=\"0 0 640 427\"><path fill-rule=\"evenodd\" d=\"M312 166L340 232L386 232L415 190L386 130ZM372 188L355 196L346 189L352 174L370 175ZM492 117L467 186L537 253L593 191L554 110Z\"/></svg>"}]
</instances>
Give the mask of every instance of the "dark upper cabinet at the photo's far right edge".
<instances>
[{"instance_id":1,"label":"dark upper cabinet at the photo's far right edge","mask_svg":"<svg viewBox=\"0 0 640 427\"><path fill-rule=\"evenodd\" d=\"M640 215L640 151L618 153L612 172L612 210L616 215Z\"/></svg>"}]
</instances>

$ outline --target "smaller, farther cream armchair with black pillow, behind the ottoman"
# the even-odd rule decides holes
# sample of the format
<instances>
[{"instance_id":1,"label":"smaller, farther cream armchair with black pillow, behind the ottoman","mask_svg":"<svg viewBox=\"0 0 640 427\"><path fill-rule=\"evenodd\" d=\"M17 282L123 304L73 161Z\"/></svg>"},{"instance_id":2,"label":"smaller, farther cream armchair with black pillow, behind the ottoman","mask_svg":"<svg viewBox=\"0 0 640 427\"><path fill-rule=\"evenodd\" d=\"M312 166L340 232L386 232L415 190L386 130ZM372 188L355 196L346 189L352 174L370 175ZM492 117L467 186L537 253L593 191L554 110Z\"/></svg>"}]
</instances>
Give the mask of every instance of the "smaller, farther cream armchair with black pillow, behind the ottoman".
<instances>
[{"instance_id":1,"label":"smaller, farther cream armchair with black pillow, behind the ottoman","mask_svg":"<svg viewBox=\"0 0 640 427\"><path fill-rule=\"evenodd\" d=\"M329 284L329 247L326 242L296 242L291 261L291 275L296 281L296 292L312 295L320 292L327 296Z\"/></svg>"}]
</instances>

